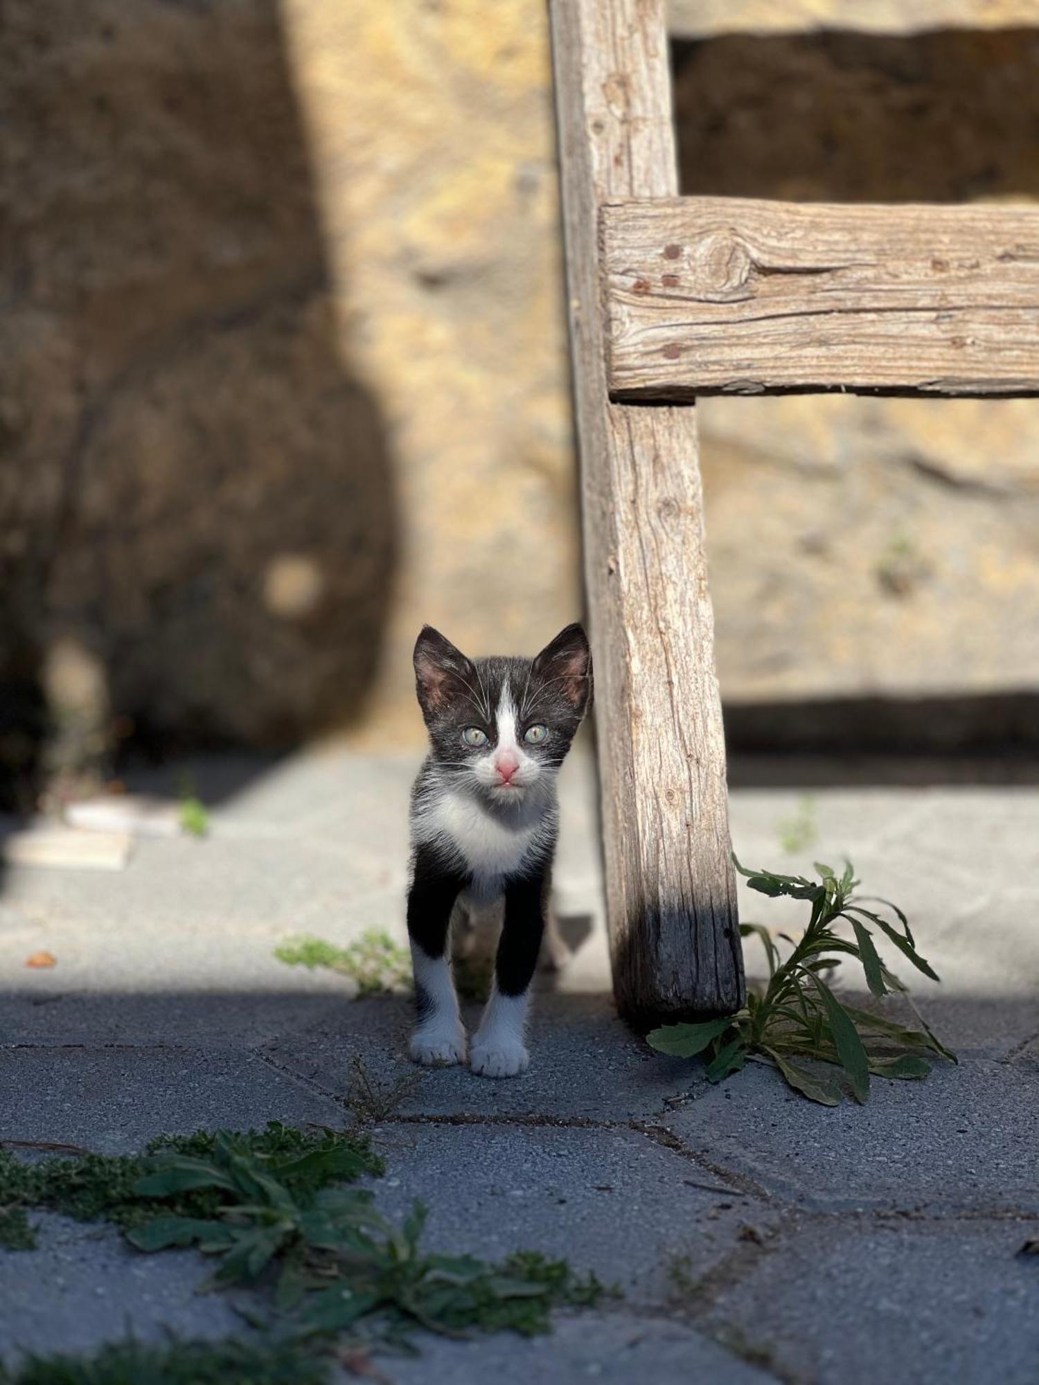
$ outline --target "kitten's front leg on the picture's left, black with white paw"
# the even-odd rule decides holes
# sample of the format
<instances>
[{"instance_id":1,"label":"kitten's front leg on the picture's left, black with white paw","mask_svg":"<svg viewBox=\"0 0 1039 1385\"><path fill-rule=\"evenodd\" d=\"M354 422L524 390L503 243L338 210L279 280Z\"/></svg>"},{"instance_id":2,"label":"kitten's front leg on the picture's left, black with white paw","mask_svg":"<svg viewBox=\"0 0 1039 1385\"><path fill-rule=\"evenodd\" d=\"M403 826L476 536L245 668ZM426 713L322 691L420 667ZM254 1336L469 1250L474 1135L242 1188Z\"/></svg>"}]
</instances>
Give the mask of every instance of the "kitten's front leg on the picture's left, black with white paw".
<instances>
[{"instance_id":1,"label":"kitten's front leg on the picture's left, black with white paw","mask_svg":"<svg viewBox=\"0 0 1039 1385\"><path fill-rule=\"evenodd\" d=\"M445 867L428 846L418 848L407 895L407 936L418 1011L409 1053L416 1062L427 1065L465 1061L465 1028L447 956L452 909L465 884L465 877Z\"/></svg>"}]
</instances>

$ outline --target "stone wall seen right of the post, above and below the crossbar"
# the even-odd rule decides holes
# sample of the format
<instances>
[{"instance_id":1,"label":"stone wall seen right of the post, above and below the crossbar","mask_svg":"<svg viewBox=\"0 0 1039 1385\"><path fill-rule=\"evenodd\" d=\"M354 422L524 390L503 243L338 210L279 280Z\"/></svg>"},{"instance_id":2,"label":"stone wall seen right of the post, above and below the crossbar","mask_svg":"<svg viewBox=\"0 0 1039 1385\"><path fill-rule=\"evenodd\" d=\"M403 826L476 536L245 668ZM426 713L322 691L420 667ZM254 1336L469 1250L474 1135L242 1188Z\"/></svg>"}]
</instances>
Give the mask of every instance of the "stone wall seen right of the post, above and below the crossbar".
<instances>
[{"instance_id":1,"label":"stone wall seen right of the post, above and below the crossbar","mask_svg":"<svg viewBox=\"0 0 1039 1385\"><path fill-rule=\"evenodd\" d=\"M686 193L1039 195L1039 29L730 35L675 89ZM729 701L1039 687L1039 402L700 409Z\"/></svg>"}]
</instances>

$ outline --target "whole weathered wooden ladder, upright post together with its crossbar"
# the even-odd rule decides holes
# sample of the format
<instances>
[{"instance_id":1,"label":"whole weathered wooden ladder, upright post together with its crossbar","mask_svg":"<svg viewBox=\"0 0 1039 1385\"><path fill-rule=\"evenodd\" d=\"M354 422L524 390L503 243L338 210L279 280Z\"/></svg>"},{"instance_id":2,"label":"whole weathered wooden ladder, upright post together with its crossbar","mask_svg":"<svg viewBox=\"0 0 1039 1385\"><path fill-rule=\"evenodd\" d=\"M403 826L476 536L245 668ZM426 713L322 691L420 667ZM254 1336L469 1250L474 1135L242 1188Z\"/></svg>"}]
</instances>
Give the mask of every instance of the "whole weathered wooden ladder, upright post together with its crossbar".
<instances>
[{"instance_id":1,"label":"whole weathered wooden ladder, upright post together with its crossbar","mask_svg":"<svg viewBox=\"0 0 1039 1385\"><path fill-rule=\"evenodd\" d=\"M1039 393L1039 211L677 197L662 0L550 0L614 989L744 1003L697 395Z\"/></svg>"}]
</instances>

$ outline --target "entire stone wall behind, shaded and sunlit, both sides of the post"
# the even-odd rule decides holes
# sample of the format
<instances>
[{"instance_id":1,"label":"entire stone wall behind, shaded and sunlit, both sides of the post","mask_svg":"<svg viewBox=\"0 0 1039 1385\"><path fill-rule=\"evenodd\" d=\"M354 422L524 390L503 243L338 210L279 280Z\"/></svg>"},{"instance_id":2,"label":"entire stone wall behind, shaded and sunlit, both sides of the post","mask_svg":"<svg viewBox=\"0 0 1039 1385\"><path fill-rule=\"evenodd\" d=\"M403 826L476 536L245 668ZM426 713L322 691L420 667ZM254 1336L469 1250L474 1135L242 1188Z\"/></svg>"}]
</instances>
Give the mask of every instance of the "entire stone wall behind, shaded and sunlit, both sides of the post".
<instances>
[{"instance_id":1,"label":"entire stone wall behind, shaded and sunlit, both sides of the post","mask_svg":"<svg viewBox=\"0 0 1039 1385\"><path fill-rule=\"evenodd\" d=\"M1036 44L682 47L686 190L1032 198ZM0 756L47 701L414 738L423 620L579 614L549 71L540 0L8 0ZM730 701L1036 686L1039 404L709 400L702 440Z\"/></svg>"}]
</instances>

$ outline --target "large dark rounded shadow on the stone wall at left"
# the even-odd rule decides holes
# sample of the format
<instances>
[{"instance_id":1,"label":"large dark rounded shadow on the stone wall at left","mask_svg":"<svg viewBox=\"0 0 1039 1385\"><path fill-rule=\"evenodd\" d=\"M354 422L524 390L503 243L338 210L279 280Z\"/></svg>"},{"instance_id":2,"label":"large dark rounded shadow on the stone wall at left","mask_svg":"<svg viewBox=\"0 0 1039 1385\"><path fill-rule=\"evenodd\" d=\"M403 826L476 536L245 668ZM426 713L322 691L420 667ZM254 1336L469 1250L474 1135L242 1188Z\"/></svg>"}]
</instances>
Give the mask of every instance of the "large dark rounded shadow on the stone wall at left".
<instances>
[{"instance_id":1,"label":"large dark rounded shadow on the stone wall at left","mask_svg":"<svg viewBox=\"0 0 1039 1385\"><path fill-rule=\"evenodd\" d=\"M349 722L395 564L274 0L14 0L0 767ZM44 737L46 733L46 737Z\"/></svg>"}]
</instances>

